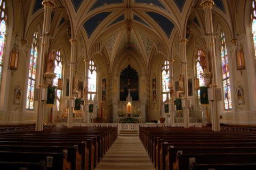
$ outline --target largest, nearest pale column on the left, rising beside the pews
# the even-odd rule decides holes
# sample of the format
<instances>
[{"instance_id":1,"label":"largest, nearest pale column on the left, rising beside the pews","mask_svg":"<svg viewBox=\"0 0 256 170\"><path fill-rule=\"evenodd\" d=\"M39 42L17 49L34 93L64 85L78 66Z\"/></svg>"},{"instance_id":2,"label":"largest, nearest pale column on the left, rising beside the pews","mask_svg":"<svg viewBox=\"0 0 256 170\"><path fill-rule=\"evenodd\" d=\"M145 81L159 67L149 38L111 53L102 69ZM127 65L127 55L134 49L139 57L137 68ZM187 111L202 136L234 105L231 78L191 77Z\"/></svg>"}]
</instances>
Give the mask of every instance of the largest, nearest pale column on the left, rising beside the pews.
<instances>
[{"instance_id":1,"label":"largest, nearest pale column on the left, rising beside the pews","mask_svg":"<svg viewBox=\"0 0 256 170\"><path fill-rule=\"evenodd\" d=\"M44 106L45 101L42 101L43 87L44 85L44 68L45 68L45 58L47 58L47 52L49 52L49 34L51 27L51 13L54 7L54 2L51 0L43 1L44 6L44 21L42 30L42 44L39 59L39 73L38 73L38 104L37 104L37 118L36 118L36 131L43 131L43 121L44 121Z\"/></svg>"}]
</instances>

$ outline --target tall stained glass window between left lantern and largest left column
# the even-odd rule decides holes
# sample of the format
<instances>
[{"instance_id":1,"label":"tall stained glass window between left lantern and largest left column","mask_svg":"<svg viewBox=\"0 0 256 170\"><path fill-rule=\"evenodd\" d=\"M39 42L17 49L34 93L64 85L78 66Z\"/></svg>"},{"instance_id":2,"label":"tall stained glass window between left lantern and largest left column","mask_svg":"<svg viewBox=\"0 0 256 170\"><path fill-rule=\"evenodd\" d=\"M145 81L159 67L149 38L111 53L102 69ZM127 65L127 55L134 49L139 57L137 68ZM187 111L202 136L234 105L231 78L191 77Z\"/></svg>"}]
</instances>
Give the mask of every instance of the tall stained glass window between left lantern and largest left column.
<instances>
[{"instance_id":1,"label":"tall stained glass window between left lantern and largest left column","mask_svg":"<svg viewBox=\"0 0 256 170\"><path fill-rule=\"evenodd\" d=\"M34 109L34 91L36 84L36 67L37 67L37 37L35 32L33 35L33 42L30 49L29 71L28 71L28 88L27 88L27 100L26 109Z\"/></svg>"}]
</instances>

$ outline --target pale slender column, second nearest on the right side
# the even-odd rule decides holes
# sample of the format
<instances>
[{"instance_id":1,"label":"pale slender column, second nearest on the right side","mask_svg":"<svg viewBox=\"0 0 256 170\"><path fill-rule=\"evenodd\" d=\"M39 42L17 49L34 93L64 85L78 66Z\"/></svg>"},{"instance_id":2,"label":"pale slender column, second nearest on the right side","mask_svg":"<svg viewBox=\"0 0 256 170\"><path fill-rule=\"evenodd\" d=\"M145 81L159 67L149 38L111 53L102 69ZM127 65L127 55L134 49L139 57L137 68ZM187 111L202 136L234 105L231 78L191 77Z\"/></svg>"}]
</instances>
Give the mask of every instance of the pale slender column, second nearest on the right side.
<instances>
[{"instance_id":1,"label":"pale slender column, second nearest on the right side","mask_svg":"<svg viewBox=\"0 0 256 170\"><path fill-rule=\"evenodd\" d=\"M183 107L183 119L184 119L184 127L189 127L189 110L188 110L188 66L187 66L187 51L186 51L186 44L187 39L180 39L180 55L182 59L182 72L184 76L184 95L182 100L185 101L185 106Z\"/></svg>"}]
</instances>

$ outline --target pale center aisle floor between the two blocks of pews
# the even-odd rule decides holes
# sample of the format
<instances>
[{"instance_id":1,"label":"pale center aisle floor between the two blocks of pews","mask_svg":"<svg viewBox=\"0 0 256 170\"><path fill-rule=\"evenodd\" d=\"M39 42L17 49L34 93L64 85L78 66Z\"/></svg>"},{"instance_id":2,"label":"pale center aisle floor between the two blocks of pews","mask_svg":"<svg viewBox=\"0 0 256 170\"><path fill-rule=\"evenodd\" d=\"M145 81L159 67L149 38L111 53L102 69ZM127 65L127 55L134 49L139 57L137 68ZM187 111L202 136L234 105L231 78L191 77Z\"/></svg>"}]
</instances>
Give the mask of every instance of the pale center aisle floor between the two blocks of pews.
<instances>
[{"instance_id":1,"label":"pale center aisle floor between the two blocks of pews","mask_svg":"<svg viewBox=\"0 0 256 170\"><path fill-rule=\"evenodd\" d=\"M95 170L155 170L139 136L118 136Z\"/></svg>"}]
</instances>

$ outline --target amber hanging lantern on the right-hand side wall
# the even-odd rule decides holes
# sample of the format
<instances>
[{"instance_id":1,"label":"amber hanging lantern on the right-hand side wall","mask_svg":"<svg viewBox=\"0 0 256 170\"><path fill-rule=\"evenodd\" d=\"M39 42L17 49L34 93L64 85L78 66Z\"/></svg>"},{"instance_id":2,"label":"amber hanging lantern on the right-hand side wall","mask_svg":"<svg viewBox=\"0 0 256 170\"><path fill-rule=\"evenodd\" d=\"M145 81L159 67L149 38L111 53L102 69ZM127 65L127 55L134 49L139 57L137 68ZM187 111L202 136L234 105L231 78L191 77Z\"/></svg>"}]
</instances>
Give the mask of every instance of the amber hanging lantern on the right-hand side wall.
<instances>
[{"instance_id":1,"label":"amber hanging lantern on the right-hand side wall","mask_svg":"<svg viewBox=\"0 0 256 170\"><path fill-rule=\"evenodd\" d=\"M243 76L242 71L245 69L244 51L241 43L239 42L238 35L236 44L236 68L241 72L241 76Z\"/></svg>"}]
</instances>

